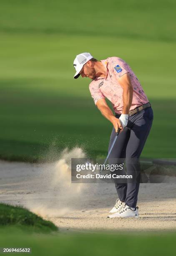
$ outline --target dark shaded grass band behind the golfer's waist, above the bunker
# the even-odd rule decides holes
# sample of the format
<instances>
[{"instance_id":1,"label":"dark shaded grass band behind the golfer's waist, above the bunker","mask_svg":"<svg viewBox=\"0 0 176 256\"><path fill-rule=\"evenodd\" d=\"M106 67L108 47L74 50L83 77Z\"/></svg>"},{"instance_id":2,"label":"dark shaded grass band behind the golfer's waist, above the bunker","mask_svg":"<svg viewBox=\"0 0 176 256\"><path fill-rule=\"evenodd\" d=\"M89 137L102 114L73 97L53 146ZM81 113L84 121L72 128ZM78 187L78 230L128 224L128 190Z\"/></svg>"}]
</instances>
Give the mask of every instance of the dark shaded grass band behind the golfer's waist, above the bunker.
<instances>
[{"instance_id":1,"label":"dark shaded grass band behind the golfer's waist, above the bunker","mask_svg":"<svg viewBox=\"0 0 176 256\"><path fill-rule=\"evenodd\" d=\"M51 105L49 102L40 102L39 106L36 98L32 107L31 104L20 105L18 101L18 108L26 111L25 118L13 106L6 109L1 118L0 158L11 161L55 161L64 148L75 146L83 148L90 157L106 157L112 124L102 117L92 99L83 101L72 98L71 109L67 105L63 107L64 100L66 102L68 98ZM176 121L173 120L176 103L174 100L154 99L150 102L154 120L142 156L173 158L176 154ZM169 106L169 110L166 106ZM17 121L6 118L9 111L14 120L16 116ZM8 139L8 131L11 139ZM53 158L48 159L51 147Z\"/></svg>"}]
</instances>

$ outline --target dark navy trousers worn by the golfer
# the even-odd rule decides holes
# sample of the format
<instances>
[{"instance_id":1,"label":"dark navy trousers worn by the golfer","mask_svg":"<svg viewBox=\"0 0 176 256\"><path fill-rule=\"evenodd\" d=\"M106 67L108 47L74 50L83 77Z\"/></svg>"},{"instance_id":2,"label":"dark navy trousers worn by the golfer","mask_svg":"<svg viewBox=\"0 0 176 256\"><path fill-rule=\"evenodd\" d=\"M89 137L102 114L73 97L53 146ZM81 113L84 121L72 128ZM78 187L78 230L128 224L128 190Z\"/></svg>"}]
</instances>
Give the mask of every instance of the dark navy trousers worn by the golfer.
<instances>
[{"instance_id":1,"label":"dark navy trousers worn by the golfer","mask_svg":"<svg viewBox=\"0 0 176 256\"><path fill-rule=\"evenodd\" d=\"M116 117L119 118L120 115L116 114ZM129 116L128 124L118 135L116 143L109 156L109 164L119 164L119 159L126 159L126 174L134 174L135 176L138 176L136 182L129 183L117 183L114 179L119 199L122 202L126 202L130 207L136 207L137 204L140 170L138 169L139 165L137 163L128 164L128 161L130 162L131 159L134 159L135 163L135 161L139 159L151 130L152 122L153 110L151 107L146 108L135 115ZM113 128L108 150L111 148L115 136L116 132Z\"/></svg>"}]
</instances>

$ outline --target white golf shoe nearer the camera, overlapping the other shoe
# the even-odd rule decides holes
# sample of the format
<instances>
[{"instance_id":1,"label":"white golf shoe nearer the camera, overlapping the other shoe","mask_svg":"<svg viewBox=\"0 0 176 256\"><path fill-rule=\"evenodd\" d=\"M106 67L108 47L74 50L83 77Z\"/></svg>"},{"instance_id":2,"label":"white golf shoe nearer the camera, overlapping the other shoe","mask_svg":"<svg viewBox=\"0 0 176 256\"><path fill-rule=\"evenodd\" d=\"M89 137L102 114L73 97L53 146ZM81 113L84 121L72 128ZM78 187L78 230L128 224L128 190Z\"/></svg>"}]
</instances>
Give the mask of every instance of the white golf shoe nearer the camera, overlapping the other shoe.
<instances>
[{"instance_id":1,"label":"white golf shoe nearer the camera, overlapping the other shoe","mask_svg":"<svg viewBox=\"0 0 176 256\"><path fill-rule=\"evenodd\" d=\"M138 218L139 213L138 213L138 207L136 207L135 210L131 210L131 208L128 205L124 205L124 207L121 209L121 211L118 211L114 214L111 214L108 216L108 218L128 218L128 217L134 217Z\"/></svg>"}]
</instances>

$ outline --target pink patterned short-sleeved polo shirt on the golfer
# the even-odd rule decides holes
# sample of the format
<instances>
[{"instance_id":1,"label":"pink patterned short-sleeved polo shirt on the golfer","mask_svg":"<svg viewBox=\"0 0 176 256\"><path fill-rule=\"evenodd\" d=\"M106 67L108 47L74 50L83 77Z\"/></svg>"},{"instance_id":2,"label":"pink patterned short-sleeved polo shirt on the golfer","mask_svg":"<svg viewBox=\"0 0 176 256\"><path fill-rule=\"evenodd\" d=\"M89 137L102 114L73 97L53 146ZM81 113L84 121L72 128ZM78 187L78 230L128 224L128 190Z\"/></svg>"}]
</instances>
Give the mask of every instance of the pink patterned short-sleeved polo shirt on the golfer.
<instances>
[{"instance_id":1,"label":"pink patterned short-sleeved polo shirt on the golfer","mask_svg":"<svg viewBox=\"0 0 176 256\"><path fill-rule=\"evenodd\" d=\"M133 101L130 110L148 102L147 96L136 75L123 59L109 57L108 59L101 60L101 62L107 68L106 78L96 77L89 85L89 90L95 104L101 98L107 98L112 102L114 112L121 114L123 111L123 88L118 79L126 73L129 73L133 86Z\"/></svg>"}]
</instances>

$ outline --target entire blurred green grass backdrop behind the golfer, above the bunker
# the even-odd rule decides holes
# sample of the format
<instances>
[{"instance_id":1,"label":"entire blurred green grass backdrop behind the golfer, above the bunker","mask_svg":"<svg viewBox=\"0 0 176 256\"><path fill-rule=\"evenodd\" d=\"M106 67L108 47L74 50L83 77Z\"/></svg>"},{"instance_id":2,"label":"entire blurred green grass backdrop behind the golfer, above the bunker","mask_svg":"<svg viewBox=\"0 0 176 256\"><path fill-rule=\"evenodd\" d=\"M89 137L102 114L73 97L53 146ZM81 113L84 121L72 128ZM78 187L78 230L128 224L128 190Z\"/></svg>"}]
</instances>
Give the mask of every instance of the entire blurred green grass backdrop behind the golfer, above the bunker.
<instances>
[{"instance_id":1,"label":"entire blurred green grass backdrop behind the golfer, above the bunker","mask_svg":"<svg viewBox=\"0 0 176 256\"><path fill-rule=\"evenodd\" d=\"M48 151L57 158L74 146L106 156L112 125L91 80L73 79L85 51L127 61L154 111L142 156L175 157L175 8L173 0L1 0L0 157L48 161Z\"/></svg>"}]
</instances>

